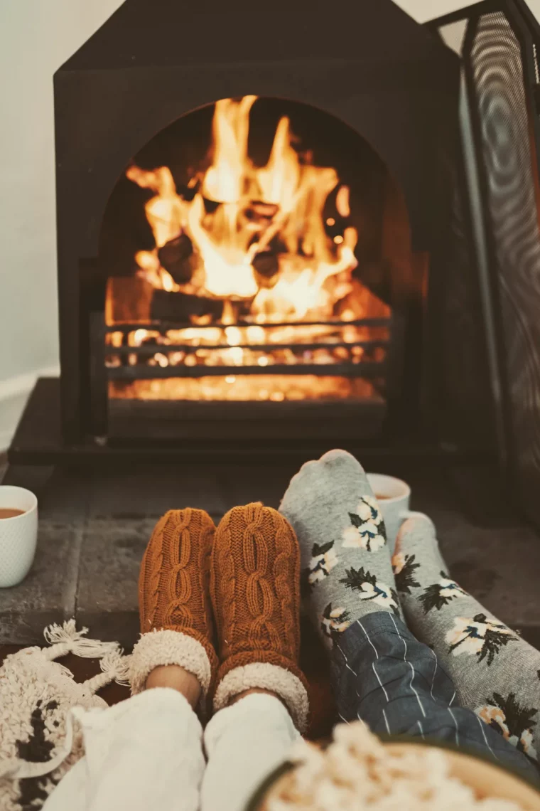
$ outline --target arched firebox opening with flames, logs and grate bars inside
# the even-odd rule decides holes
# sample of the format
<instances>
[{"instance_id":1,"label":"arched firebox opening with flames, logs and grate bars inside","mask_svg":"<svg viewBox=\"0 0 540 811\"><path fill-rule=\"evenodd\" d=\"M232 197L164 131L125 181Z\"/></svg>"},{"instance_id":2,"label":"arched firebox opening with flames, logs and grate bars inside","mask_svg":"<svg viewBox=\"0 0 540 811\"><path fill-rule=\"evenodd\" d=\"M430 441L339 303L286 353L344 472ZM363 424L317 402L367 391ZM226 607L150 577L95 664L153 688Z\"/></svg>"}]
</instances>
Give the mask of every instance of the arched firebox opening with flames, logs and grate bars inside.
<instances>
[{"instance_id":1,"label":"arched firebox opening with flames, logs and grate bars inside","mask_svg":"<svg viewBox=\"0 0 540 811\"><path fill-rule=\"evenodd\" d=\"M104 216L108 397L383 401L398 216L408 237L381 159L330 114L245 96L174 122Z\"/></svg>"}]
</instances>

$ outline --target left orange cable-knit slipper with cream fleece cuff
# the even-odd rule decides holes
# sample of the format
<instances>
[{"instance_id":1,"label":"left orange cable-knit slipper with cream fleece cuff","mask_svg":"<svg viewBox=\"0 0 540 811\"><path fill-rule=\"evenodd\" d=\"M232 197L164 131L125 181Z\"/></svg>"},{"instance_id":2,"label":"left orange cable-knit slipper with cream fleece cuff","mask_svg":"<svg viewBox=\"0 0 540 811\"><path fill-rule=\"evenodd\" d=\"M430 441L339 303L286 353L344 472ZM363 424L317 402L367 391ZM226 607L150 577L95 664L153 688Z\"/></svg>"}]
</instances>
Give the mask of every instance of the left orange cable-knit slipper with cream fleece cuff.
<instances>
[{"instance_id":1,"label":"left orange cable-knit slipper with cream fleece cuff","mask_svg":"<svg viewBox=\"0 0 540 811\"><path fill-rule=\"evenodd\" d=\"M155 525L138 579L141 638L130 659L132 693L144 689L155 667L177 664L197 676L206 697L218 666L209 597L214 533L214 521L199 509L169 510Z\"/></svg>"}]
</instances>

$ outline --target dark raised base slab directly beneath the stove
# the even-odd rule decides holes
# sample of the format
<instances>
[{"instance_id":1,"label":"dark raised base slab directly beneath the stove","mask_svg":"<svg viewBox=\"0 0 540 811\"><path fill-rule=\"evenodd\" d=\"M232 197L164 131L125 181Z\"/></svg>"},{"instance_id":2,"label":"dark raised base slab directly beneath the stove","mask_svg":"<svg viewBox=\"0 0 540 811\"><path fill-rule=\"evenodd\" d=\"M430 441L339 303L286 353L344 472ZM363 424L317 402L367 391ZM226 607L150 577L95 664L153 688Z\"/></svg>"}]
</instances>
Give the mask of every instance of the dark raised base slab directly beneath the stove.
<instances>
[{"instance_id":1,"label":"dark raised base slab directly beneath the stove","mask_svg":"<svg viewBox=\"0 0 540 811\"><path fill-rule=\"evenodd\" d=\"M453 461L460 457L468 461L478 457L474 449L443 449L427 441L424 436L412 434L396 444L380 437L380 442L373 445L366 440L366 436L375 436L372 435L371 429L349 432L348 427L351 423L339 419L338 429L335 431L332 429L330 434L325 433L324 421L321 420L320 430L317 427L319 421L315 421L317 431L314 433L312 431L310 438L304 436L304 424L301 421L298 430L288 438L277 436L268 426L261 430L257 428L257 438L253 437L253 427L251 433L246 430L239 436L232 434L228 430L227 421L223 421L223 427L218 425L217 433L216 427L213 427L213 435L210 431L203 431L202 436L200 434L192 436L188 431L188 436L161 440L125 437L104 441L103 438L94 440L86 437L76 444L65 444L62 442L60 414L60 380L40 378L28 398L11 443L8 452L11 465L76 465L108 470L111 465L128 465L140 461L147 465L168 462L185 464L188 461L198 463L202 460L214 464L215 461L228 463L233 460L241 463L245 461L257 463L264 459L268 464L279 467L284 460L299 465L306 459L321 455L332 445L347 448L351 453L359 453L364 461L423 458L437 459L444 463L448 457L452 457ZM359 414L359 418L364 419L364 413ZM259 436L259 433L264 436Z\"/></svg>"}]
</instances>

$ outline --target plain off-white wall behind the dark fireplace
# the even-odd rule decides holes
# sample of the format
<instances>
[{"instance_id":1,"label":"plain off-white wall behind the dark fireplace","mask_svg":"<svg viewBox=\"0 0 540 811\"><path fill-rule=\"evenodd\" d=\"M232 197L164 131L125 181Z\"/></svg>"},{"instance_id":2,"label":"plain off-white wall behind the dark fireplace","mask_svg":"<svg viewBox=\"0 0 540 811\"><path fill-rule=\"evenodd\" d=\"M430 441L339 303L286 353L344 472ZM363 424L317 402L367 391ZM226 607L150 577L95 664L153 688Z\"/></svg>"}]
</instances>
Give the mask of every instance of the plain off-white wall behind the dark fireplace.
<instances>
[{"instance_id":1,"label":"plain off-white wall behind the dark fireplace","mask_svg":"<svg viewBox=\"0 0 540 811\"><path fill-rule=\"evenodd\" d=\"M424 22L471 0L397 2ZM36 375L57 368L53 72L120 3L0 0L0 448Z\"/></svg>"}]
</instances>

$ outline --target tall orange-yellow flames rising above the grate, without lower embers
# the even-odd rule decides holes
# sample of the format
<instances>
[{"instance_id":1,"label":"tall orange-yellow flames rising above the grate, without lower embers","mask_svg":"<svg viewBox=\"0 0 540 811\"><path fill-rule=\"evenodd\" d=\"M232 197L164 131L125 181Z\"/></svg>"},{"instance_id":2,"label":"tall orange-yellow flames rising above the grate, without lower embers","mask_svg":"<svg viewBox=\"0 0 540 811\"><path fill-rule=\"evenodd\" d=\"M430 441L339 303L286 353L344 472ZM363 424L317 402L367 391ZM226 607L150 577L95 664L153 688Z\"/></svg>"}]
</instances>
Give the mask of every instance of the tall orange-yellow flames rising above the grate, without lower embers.
<instances>
[{"instance_id":1,"label":"tall orange-yellow flames rising above the grate, without lower embers","mask_svg":"<svg viewBox=\"0 0 540 811\"><path fill-rule=\"evenodd\" d=\"M248 156L249 111L254 101L256 97L245 96L216 103L211 161L193 200L177 194L166 166L153 171L131 166L127 177L156 192L147 202L146 213L158 248L181 233L193 242L199 268L196 292L215 298L255 297L256 313L261 311L257 294L262 292L265 311L280 311L279 303L287 301L291 317L303 318L313 307L324 309L317 312L318 318L328 317L335 300L321 295L322 286L328 278L351 273L356 266L356 231L348 229L346 242L337 248L325 232L322 212L338 185L338 174L335 169L300 163L285 117L276 128L266 166L254 166ZM215 212L206 213L205 198L219 203ZM338 200L341 210L348 207L347 187L339 189ZM246 216L253 201L274 206L269 223L258 225ZM287 250L279 254L278 290L272 306L272 293L257 281L253 260L277 236ZM181 290L160 268L157 251L152 260L148 253L139 251L135 257L148 281L165 290ZM308 288L306 299L303 291Z\"/></svg>"}]
</instances>

